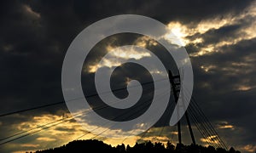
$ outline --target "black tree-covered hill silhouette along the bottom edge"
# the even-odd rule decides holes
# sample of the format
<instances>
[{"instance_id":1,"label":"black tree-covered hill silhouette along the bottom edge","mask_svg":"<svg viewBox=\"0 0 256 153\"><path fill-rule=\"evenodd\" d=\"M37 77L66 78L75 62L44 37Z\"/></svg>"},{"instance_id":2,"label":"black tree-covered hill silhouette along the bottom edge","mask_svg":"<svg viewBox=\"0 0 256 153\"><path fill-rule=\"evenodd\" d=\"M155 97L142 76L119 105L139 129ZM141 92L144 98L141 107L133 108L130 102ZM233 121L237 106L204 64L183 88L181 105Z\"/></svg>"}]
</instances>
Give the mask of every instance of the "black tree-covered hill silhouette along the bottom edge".
<instances>
[{"instance_id":1,"label":"black tree-covered hill silhouette along the bottom edge","mask_svg":"<svg viewBox=\"0 0 256 153\"><path fill-rule=\"evenodd\" d=\"M230 148L230 150L224 150L223 148L215 149L212 146L201 146L201 145L184 145L177 144L176 146L168 142L165 144L162 143L152 143L150 141L135 144L134 146L130 146L129 144L125 147L125 144L120 144L117 146L111 146L109 144L105 144L102 141L96 139L88 139L88 140L75 140L68 144L65 144L61 147L57 147L49 150L38 150L36 153L63 153L63 152L74 152L74 153L85 153L90 152L92 150L95 151L105 151L111 153L126 153L126 152L173 152L173 153L240 153L238 150L234 150L234 148Z\"/></svg>"}]
</instances>

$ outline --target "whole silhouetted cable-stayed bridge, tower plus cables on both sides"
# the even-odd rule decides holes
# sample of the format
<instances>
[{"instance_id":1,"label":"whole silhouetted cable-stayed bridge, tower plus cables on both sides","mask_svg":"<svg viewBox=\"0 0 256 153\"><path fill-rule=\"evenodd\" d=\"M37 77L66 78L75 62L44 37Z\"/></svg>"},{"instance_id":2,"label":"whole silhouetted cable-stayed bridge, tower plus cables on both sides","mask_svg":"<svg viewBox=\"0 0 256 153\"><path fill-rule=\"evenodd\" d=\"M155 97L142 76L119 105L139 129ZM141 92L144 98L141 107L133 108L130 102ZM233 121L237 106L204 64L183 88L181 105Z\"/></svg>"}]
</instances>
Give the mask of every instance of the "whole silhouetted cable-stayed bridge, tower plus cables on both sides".
<instances>
[{"instance_id":1,"label":"whole silhouetted cable-stayed bridge, tower plus cables on both sides","mask_svg":"<svg viewBox=\"0 0 256 153\"><path fill-rule=\"evenodd\" d=\"M180 93L181 92L181 90L180 90L180 87L181 87L181 77L180 77L179 74L176 75L176 76L173 76L172 72L169 71L169 80L170 80L170 83L172 84L172 90L169 91L169 92L172 92L172 96L175 99L175 102L177 103L177 99L180 96L180 94L186 94L186 91L184 91L183 93ZM148 83L154 83L154 82L143 82L142 86L145 86ZM118 89L114 89L113 91L109 91L109 93L110 92L114 92L114 91L119 91L119 90L125 90L125 89L126 88L118 88ZM94 97L96 95L97 94L91 94L91 95L88 95L88 96L85 96L85 97L86 98L90 98L90 97ZM82 98L78 98L78 99L82 99ZM73 101L73 99L71 99L70 101ZM169 104L171 105L172 103L169 103ZM20 110L20 111L13 111L13 112L9 112L9 113L4 113L4 114L1 114L0 117L12 116L12 115L15 115L15 114L20 114L20 113L34 111L34 110L47 109L49 107L54 107L56 105L65 105L65 101L58 101L58 102L47 104L47 105L38 105L36 107L27 108L27 109ZM96 108L96 109L104 109L104 107L99 107L99 108ZM77 114L75 116L84 116L84 114L86 114L86 113L88 113L88 111L81 112L81 113L79 113L79 114ZM170 116L170 111L166 111L163 116ZM13 134L5 137L5 138L0 138L0 145L9 144L10 142L13 142L13 141L15 141L17 139L22 139L22 138L25 138L25 137L30 137L33 134L43 132L43 131L45 131L45 130L47 130L49 128L56 127L56 126L61 125L61 124L65 123L65 122L70 122L71 120L73 120L73 117L74 116L66 116L66 117L63 117L63 118L61 118L59 120L47 122L44 125L38 125L37 127L28 129L26 131L20 131L18 133L13 133ZM160 133L156 133L156 134L161 135L161 133L163 133L164 129L166 128L166 125L167 125L166 123L168 122L168 119L170 119L170 117L169 118L166 117L164 119L166 121L162 121L163 124L161 124L161 125L158 125L156 123L156 125L154 127L159 127L160 128ZM182 129L182 127L185 127L185 126L182 126L182 123L181 123L183 120L186 121L186 125L187 125L186 127L188 127L188 129ZM192 126L196 127L198 132L201 133L201 137L206 140L207 144L212 145L215 148L224 148L224 149L227 150L227 146L226 146L226 144L224 144L224 140L220 138L220 136L218 135L217 131L212 126L212 123L209 122L209 120L207 119L207 116L201 110L200 105L197 104L197 102L196 102L196 100L195 100L195 98L193 96L190 99L189 108L185 112L182 120L177 122L177 139L178 139L178 143L179 144L183 144L183 141L182 141L183 140L183 138L182 138L182 130L183 131L184 130L188 130L190 138L191 138L191 143L192 144L196 144L195 134L193 132ZM150 129L151 128L149 128L148 131ZM94 129L94 130L97 130L97 128ZM139 135L140 139L137 139L137 141L138 142L139 141L143 141L143 139L145 137L147 137L148 131L140 134ZM83 139L84 136L86 136L87 134L88 133L85 132L83 135L79 136L76 139ZM98 135L92 137L91 139L97 139L100 136L101 135L98 134ZM122 142L125 142L125 139L127 139L127 138L124 138L122 140ZM172 138L169 138L169 139L172 142Z\"/></svg>"}]
</instances>

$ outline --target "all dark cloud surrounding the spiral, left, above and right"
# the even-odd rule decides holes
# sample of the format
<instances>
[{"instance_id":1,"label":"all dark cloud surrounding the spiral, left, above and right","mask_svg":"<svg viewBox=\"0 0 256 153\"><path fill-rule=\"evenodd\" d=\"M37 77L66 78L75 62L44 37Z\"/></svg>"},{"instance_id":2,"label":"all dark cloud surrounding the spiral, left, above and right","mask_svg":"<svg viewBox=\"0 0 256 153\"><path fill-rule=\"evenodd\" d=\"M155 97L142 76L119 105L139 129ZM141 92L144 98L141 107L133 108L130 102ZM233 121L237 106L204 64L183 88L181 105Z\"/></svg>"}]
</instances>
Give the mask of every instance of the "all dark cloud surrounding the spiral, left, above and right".
<instances>
[{"instance_id":1,"label":"all dark cloud surrounding the spiral, left, above and right","mask_svg":"<svg viewBox=\"0 0 256 153\"><path fill-rule=\"evenodd\" d=\"M61 101L61 66L69 44L91 23L116 14L142 14L168 23L178 20L197 25L232 14L234 17L251 5L252 1L6 1L0 4L0 113L17 111L37 105ZM247 16L235 25L211 29L202 37L202 44L191 45L188 52L197 52L207 44L240 37L243 28L253 17ZM119 42L123 40L119 39ZM255 141L254 80L255 39L222 46L222 52L192 59L195 74L195 98L212 122L229 120L241 127L243 144ZM103 47L97 47L99 50ZM97 54L92 54L93 57ZM232 63L245 65L232 65ZM201 65L214 65L203 71ZM225 69L224 69L225 68ZM241 85L251 90L237 91ZM32 111L24 116L1 119L6 123L31 120L34 114L56 113L65 105ZM218 111L218 113L216 112ZM28 117L29 116L29 117ZM230 133L232 134L232 133ZM240 139L240 133L236 133ZM235 142L235 141L234 141Z\"/></svg>"}]
</instances>

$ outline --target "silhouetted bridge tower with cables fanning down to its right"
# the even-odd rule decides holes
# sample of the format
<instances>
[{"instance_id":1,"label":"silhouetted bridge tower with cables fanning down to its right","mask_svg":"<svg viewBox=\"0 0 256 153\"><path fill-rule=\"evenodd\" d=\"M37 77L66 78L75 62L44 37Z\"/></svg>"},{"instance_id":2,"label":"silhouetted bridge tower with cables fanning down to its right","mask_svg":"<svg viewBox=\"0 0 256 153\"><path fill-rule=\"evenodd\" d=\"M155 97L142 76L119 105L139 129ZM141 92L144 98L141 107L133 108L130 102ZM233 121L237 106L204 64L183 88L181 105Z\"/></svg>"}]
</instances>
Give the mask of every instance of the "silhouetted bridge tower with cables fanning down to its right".
<instances>
[{"instance_id":1,"label":"silhouetted bridge tower with cables fanning down to its right","mask_svg":"<svg viewBox=\"0 0 256 153\"><path fill-rule=\"evenodd\" d=\"M179 96L183 96L185 94L186 90L181 93L181 76L178 74L176 76L172 75L172 71L168 71L169 80L172 85L172 92L173 97L175 100L175 103L177 104L177 100ZM184 113L185 120L187 122L188 128L189 128L189 134L190 138L192 140L192 143L195 144L195 135L193 133L190 118L195 124L195 127L197 127L199 133L201 133L201 136L207 141L207 144L210 144L216 148L224 148L227 149L226 145L224 144L224 141L220 139L218 133L212 126L211 122L207 119L207 116L205 116L204 112L201 110L200 106L196 103L195 98L192 96L190 99L189 107L187 111ZM181 121L177 122L177 137L178 137L178 143L182 144L182 134L181 134Z\"/></svg>"}]
</instances>

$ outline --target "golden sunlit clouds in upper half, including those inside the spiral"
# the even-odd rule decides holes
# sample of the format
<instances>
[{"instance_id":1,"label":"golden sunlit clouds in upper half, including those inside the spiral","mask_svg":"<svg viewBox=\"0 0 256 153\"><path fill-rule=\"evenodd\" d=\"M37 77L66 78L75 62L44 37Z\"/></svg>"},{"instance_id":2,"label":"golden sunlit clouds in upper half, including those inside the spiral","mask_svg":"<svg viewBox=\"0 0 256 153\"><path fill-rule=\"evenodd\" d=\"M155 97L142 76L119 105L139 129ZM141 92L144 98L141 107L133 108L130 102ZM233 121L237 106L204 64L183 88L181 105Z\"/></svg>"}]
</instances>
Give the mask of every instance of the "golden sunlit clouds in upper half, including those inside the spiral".
<instances>
[{"instance_id":1,"label":"golden sunlit clouds in upper half, including those inside the spiral","mask_svg":"<svg viewBox=\"0 0 256 153\"><path fill-rule=\"evenodd\" d=\"M186 47L187 45L194 45L196 47L196 51L193 53L189 53L190 57L198 57L204 56L214 53L224 52L223 47L234 45L243 40L249 40L256 37L256 3L252 3L252 5L247 8L247 11L241 12L236 16L232 14L224 14L224 16L215 16L211 20L201 20L198 23L189 23L183 24L179 21L171 21L167 25L167 32L163 36L167 41L170 41L179 46ZM235 37L223 39L219 42L208 42L206 45L204 35L207 34L208 31L218 30L225 26L236 26L241 24L241 20L244 18L252 18L255 20L250 21L247 26L242 26L240 29L236 31ZM161 37L160 37L161 38ZM147 46L156 46L157 40L153 40L149 37L139 37L134 45L146 48ZM116 46L109 44L106 50L111 51ZM119 59L142 59L143 57L148 57L148 54L141 54L135 50L130 51L131 54L124 54L122 50L113 54L112 59L104 59L102 65L97 63L89 65L90 73L95 72L100 67L112 67L120 65ZM214 66L214 65L212 65ZM202 65L202 67L207 67L207 65Z\"/></svg>"}]
</instances>

